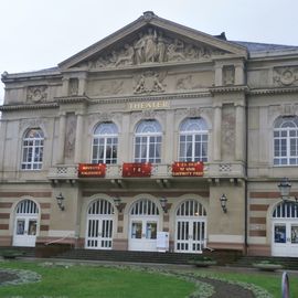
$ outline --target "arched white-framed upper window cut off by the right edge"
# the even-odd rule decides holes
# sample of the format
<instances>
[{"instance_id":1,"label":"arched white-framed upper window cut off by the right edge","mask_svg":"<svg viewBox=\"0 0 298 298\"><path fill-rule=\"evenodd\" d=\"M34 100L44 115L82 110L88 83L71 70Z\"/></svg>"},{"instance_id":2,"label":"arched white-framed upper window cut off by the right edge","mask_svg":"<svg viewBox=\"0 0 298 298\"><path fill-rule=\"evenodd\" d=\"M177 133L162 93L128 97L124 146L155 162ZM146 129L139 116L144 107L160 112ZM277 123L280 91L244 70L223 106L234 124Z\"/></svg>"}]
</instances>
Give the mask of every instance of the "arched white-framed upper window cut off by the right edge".
<instances>
[{"instance_id":1,"label":"arched white-framed upper window cut off by the right edge","mask_svg":"<svg viewBox=\"0 0 298 298\"><path fill-rule=\"evenodd\" d=\"M298 117L279 117L274 126L274 164L298 164Z\"/></svg>"}]
</instances>

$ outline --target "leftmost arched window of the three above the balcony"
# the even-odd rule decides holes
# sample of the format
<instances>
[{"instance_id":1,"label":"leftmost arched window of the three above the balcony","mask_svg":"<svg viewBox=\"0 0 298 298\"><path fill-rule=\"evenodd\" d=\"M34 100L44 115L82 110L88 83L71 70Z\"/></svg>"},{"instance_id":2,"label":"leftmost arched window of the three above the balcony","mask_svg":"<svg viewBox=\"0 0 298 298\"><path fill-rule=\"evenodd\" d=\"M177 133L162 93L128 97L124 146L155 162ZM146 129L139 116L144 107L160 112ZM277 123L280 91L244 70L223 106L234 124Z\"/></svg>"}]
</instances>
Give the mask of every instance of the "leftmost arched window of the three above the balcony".
<instances>
[{"instance_id":1,"label":"leftmost arched window of the three above the balcony","mask_svg":"<svg viewBox=\"0 0 298 298\"><path fill-rule=\"evenodd\" d=\"M96 126L93 135L93 163L117 163L118 128L113 123Z\"/></svg>"}]
</instances>

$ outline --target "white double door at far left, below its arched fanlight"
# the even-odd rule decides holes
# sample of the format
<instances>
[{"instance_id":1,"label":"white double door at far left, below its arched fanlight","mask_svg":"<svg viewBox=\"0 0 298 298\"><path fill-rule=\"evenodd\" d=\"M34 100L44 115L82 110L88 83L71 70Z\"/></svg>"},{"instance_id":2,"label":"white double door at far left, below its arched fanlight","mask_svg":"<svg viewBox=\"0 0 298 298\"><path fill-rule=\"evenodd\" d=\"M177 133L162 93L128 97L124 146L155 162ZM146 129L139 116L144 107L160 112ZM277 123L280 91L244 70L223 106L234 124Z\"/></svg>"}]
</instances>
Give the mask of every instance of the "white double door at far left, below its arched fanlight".
<instances>
[{"instance_id":1,"label":"white double door at far left, below its arched fanlight","mask_svg":"<svg viewBox=\"0 0 298 298\"><path fill-rule=\"evenodd\" d=\"M34 215L18 215L15 217L13 246L35 246L38 217Z\"/></svg>"}]
</instances>

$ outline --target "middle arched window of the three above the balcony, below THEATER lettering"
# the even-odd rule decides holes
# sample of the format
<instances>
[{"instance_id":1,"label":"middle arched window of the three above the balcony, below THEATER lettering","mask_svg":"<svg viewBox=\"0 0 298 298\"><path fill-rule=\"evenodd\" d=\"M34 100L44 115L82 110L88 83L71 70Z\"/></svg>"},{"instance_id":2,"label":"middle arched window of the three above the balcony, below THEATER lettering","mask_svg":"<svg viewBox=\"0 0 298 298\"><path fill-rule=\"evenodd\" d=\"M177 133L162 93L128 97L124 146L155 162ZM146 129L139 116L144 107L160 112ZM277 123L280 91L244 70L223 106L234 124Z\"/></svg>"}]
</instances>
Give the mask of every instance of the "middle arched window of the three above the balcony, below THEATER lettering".
<instances>
[{"instance_id":1,"label":"middle arched window of the three above the balcony, below THEATER lettering","mask_svg":"<svg viewBox=\"0 0 298 298\"><path fill-rule=\"evenodd\" d=\"M157 120L143 120L137 126L135 162L161 162L161 127Z\"/></svg>"}]
</instances>

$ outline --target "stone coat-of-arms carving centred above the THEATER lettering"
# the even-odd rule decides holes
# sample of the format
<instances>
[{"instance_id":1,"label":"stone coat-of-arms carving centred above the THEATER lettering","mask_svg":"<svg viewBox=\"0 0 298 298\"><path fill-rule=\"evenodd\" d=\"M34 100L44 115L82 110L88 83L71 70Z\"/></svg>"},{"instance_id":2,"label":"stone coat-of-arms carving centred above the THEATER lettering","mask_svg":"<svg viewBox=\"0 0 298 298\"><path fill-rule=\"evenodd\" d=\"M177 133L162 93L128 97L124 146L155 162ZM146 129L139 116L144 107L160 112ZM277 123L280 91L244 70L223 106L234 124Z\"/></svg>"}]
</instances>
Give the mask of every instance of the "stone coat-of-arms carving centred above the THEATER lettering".
<instances>
[{"instance_id":1,"label":"stone coat-of-arms carving centred above the THEATER lettering","mask_svg":"<svg viewBox=\"0 0 298 298\"><path fill-rule=\"evenodd\" d=\"M134 93L136 94L150 94L150 93L162 93L164 92L166 85L163 79L167 72L145 72L140 75L135 75L136 85L134 87Z\"/></svg>"}]
</instances>

